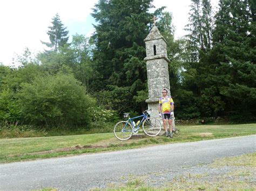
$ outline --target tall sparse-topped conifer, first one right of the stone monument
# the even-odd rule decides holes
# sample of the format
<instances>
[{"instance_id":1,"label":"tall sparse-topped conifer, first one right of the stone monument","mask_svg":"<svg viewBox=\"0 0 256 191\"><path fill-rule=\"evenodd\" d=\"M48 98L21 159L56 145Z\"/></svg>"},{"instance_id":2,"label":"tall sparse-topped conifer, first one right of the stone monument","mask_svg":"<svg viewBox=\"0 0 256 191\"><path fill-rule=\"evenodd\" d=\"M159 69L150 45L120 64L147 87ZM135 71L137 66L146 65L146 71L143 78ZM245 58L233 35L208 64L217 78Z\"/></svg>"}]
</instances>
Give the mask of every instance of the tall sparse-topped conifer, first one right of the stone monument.
<instances>
[{"instance_id":1,"label":"tall sparse-topped conifer, first one right of the stone monument","mask_svg":"<svg viewBox=\"0 0 256 191\"><path fill-rule=\"evenodd\" d=\"M189 34L186 37L186 52L189 55L184 64L184 80L181 92L184 93L185 101L188 105L187 117L214 115L216 108L220 108L221 103L214 102L218 100L215 97L215 89L210 86L208 76L208 52L212 48L212 6L209 0L192 0L190 10L190 23L186 25ZM192 95L192 96L191 96ZM189 104L194 102L194 107ZM214 105L214 104L215 105ZM191 113L191 115L189 114Z\"/></svg>"}]
</instances>

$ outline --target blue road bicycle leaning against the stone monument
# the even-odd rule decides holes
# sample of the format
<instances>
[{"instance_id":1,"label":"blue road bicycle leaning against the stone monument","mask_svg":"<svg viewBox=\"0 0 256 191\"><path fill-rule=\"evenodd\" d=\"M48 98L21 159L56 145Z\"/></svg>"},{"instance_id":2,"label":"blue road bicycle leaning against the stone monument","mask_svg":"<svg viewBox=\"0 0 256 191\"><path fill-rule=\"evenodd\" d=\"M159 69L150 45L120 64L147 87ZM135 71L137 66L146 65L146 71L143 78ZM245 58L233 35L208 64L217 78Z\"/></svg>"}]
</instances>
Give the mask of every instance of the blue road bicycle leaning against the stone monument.
<instances>
[{"instance_id":1,"label":"blue road bicycle leaning against the stone monument","mask_svg":"<svg viewBox=\"0 0 256 191\"><path fill-rule=\"evenodd\" d=\"M154 137L157 136L161 131L161 123L157 118L149 117L151 109L147 109L142 112L142 115L130 118L129 113L124 114L127 121L120 121L114 125L114 136L119 140L127 140L131 138L133 134L137 134L140 125L142 124L143 131L146 135ZM133 119L142 118L137 124Z\"/></svg>"}]
</instances>

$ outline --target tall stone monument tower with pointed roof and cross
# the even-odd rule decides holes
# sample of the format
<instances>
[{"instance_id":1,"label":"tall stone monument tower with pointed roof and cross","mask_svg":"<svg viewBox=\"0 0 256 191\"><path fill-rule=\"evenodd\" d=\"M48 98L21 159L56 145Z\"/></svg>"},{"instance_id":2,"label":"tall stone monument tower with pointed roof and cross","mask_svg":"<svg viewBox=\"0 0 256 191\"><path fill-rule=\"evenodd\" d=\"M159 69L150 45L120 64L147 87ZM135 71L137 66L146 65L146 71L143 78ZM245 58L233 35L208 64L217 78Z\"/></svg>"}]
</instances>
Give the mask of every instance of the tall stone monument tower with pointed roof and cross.
<instances>
[{"instance_id":1,"label":"tall stone monument tower with pointed roof and cross","mask_svg":"<svg viewBox=\"0 0 256 191\"><path fill-rule=\"evenodd\" d=\"M156 26L156 17L153 17L154 26L144 39L146 44L147 85L149 87L149 99L146 100L148 108L152 109L151 116L159 117L158 101L161 91L165 88L170 93L170 81L167 58L167 42L161 36Z\"/></svg>"}]
</instances>

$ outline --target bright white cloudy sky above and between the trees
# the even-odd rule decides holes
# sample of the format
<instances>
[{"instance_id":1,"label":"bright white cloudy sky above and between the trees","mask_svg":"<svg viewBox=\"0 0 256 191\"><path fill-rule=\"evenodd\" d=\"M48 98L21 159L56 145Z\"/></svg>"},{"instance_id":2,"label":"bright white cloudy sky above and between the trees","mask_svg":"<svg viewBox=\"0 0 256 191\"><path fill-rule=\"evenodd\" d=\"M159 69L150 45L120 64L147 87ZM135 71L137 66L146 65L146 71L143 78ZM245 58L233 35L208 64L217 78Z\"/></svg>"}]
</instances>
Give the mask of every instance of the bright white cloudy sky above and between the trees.
<instances>
[{"instance_id":1,"label":"bright white cloudy sky above and between the trees","mask_svg":"<svg viewBox=\"0 0 256 191\"><path fill-rule=\"evenodd\" d=\"M74 34L90 37L93 32L92 8L98 0L3 0L0 1L0 63L15 66L16 55L22 55L26 47L36 54L43 51L42 41L49 42L46 34L52 18L58 13L60 20ZM218 0L212 0L212 6ZM166 6L165 11L173 15L176 39L184 36L184 26L188 24L190 0L154 0L156 8ZM153 12L154 9L150 10Z\"/></svg>"}]
</instances>

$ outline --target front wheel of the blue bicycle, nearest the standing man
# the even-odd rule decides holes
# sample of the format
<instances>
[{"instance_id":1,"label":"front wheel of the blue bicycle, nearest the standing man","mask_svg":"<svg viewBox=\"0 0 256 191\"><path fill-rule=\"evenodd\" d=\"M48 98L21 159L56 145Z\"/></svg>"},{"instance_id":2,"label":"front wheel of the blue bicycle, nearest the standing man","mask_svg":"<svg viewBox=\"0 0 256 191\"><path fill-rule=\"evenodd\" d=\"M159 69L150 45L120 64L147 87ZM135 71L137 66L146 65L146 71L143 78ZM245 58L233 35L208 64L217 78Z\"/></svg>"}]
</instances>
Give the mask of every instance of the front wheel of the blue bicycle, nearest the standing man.
<instances>
[{"instance_id":1,"label":"front wheel of the blue bicycle, nearest the standing man","mask_svg":"<svg viewBox=\"0 0 256 191\"><path fill-rule=\"evenodd\" d=\"M151 137L157 136L161 131L161 123L154 117L147 118L143 122L142 127L146 135Z\"/></svg>"}]
</instances>

